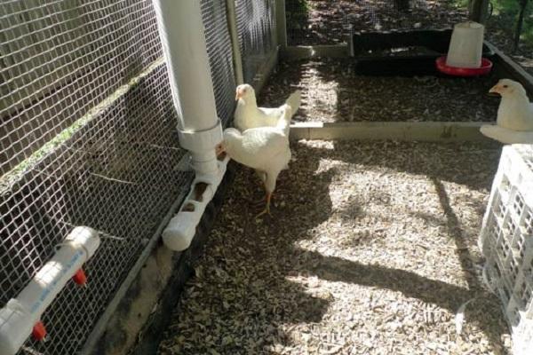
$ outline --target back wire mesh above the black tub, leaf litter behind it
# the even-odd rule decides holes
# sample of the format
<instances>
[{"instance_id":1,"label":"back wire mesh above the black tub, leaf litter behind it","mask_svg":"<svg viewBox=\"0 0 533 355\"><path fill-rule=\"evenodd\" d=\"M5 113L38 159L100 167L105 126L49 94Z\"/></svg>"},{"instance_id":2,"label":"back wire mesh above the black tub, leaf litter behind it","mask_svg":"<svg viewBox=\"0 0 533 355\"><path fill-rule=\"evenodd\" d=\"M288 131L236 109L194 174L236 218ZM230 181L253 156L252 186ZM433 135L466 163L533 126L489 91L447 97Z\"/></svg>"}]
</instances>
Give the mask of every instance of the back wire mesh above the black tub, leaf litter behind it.
<instances>
[{"instance_id":1,"label":"back wire mesh above the black tub, leaf litter behind it","mask_svg":"<svg viewBox=\"0 0 533 355\"><path fill-rule=\"evenodd\" d=\"M466 11L451 0L285 0L287 43L346 42L350 30L451 28Z\"/></svg>"}]
</instances>

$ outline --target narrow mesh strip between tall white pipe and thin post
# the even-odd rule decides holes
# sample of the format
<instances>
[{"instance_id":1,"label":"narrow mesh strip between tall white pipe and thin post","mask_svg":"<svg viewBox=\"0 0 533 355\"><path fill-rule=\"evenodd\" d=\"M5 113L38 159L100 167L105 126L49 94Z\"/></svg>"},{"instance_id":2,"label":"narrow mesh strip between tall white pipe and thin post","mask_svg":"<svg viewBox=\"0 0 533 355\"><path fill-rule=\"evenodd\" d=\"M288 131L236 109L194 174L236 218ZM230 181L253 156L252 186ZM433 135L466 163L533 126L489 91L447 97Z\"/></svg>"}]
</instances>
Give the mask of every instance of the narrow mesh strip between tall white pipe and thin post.
<instances>
[{"instance_id":1,"label":"narrow mesh strip between tall white pipe and thin post","mask_svg":"<svg viewBox=\"0 0 533 355\"><path fill-rule=\"evenodd\" d=\"M217 111L227 124L235 106L235 71L227 28L226 0L202 0L202 15Z\"/></svg>"}]
</instances>

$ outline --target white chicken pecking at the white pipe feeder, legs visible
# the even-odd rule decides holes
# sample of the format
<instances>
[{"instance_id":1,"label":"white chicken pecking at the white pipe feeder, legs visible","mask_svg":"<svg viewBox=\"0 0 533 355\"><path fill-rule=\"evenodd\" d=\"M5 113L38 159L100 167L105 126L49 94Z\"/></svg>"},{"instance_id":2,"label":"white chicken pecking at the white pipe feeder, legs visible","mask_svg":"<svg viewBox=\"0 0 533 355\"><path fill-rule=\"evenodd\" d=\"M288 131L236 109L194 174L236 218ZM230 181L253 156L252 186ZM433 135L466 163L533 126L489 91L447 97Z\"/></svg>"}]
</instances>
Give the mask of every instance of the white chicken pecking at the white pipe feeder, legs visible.
<instances>
[{"instance_id":1,"label":"white chicken pecking at the white pipe feeder, legs visible","mask_svg":"<svg viewBox=\"0 0 533 355\"><path fill-rule=\"evenodd\" d=\"M278 175L288 169L290 162L289 138L286 134L292 110L289 105L280 107L282 116L275 127L258 127L244 130L224 130L224 138L217 146L217 155L226 153L235 162L255 169L265 185L267 206L258 217L270 214L270 200Z\"/></svg>"}]
</instances>

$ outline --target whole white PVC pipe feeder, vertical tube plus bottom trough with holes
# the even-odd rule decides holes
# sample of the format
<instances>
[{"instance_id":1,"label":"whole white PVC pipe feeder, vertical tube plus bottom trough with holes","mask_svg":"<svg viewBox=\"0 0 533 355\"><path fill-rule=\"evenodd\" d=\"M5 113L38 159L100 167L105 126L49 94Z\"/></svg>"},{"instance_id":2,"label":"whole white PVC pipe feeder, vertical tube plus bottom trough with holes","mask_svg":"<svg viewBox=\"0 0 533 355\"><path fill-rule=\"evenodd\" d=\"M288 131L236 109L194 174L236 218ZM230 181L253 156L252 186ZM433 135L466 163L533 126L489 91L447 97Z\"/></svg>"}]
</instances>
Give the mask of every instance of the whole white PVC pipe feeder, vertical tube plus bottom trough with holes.
<instances>
[{"instance_id":1,"label":"whole white PVC pipe feeder, vertical tube plus bottom trough with holes","mask_svg":"<svg viewBox=\"0 0 533 355\"><path fill-rule=\"evenodd\" d=\"M211 67L198 0L153 0L163 43L172 100L179 114L179 144L192 158L196 178L190 193L163 231L172 250L188 248L203 211L219 187L227 160L219 162L215 146L222 141ZM199 187L203 191L199 196Z\"/></svg>"}]
</instances>

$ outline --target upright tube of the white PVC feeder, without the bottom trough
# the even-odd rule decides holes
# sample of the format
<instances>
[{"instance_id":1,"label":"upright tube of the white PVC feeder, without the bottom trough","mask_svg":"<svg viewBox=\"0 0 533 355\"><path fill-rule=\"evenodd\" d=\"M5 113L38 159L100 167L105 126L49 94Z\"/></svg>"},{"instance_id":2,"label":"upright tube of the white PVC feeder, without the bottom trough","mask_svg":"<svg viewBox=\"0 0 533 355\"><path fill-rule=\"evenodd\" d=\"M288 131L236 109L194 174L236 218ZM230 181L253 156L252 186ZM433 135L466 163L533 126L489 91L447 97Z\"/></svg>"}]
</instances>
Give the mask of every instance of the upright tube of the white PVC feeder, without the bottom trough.
<instances>
[{"instance_id":1,"label":"upright tube of the white PVC feeder, without the bottom trough","mask_svg":"<svg viewBox=\"0 0 533 355\"><path fill-rule=\"evenodd\" d=\"M198 175L216 175L215 146L222 140L202 11L197 0L153 0L179 114L179 143L191 152Z\"/></svg>"}]
</instances>

